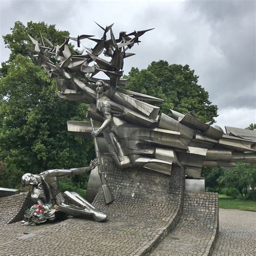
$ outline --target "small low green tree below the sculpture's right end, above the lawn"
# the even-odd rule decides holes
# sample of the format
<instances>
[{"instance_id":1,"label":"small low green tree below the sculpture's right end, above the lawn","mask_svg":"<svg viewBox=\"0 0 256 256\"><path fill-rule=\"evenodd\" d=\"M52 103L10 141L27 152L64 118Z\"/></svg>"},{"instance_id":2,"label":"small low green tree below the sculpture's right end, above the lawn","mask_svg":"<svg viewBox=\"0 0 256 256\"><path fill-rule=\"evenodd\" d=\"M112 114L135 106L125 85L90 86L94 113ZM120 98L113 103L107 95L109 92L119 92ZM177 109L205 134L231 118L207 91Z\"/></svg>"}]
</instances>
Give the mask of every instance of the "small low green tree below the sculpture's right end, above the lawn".
<instances>
[{"instance_id":1,"label":"small low green tree below the sculpture's right end, above the lawn","mask_svg":"<svg viewBox=\"0 0 256 256\"><path fill-rule=\"evenodd\" d=\"M237 163L234 169L226 169L218 179L220 185L236 188L242 198L247 197L248 190L255 190L256 164Z\"/></svg>"}]
</instances>

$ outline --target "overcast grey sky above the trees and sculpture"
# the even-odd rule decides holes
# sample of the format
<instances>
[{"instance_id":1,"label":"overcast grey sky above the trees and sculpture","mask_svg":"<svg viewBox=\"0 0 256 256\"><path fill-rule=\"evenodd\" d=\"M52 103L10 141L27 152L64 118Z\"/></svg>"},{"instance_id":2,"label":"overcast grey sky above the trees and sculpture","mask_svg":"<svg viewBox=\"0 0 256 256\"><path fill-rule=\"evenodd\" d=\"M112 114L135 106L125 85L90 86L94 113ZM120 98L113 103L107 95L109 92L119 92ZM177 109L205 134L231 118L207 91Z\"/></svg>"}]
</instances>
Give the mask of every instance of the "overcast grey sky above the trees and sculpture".
<instances>
[{"instance_id":1,"label":"overcast grey sky above the trees and sculpture","mask_svg":"<svg viewBox=\"0 0 256 256\"><path fill-rule=\"evenodd\" d=\"M0 0L1 35L15 21L44 21L68 30L71 36L102 36L102 26L114 23L113 32L155 28L134 45L135 56L125 59L124 73L132 66L145 69L152 61L188 64L199 84L219 107L217 125L244 128L256 123L256 1L38 1ZM83 41L87 46L88 41ZM9 50L0 43L0 61Z\"/></svg>"}]
</instances>

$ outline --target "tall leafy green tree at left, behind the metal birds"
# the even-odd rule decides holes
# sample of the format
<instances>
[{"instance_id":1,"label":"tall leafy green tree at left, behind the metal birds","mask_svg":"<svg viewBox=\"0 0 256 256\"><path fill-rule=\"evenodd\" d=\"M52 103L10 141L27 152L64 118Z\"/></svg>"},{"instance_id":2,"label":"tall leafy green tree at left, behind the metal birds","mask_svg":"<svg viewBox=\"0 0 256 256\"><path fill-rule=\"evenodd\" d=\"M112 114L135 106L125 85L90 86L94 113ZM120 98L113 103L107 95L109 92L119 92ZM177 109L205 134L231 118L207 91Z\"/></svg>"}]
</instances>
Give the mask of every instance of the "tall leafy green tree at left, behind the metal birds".
<instances>
[{"instance_id":1,"label":"tall leafy green tree at left, behind the metal birds","mask_svg":"<svg viewBox=\"0 0 256 256\"><path fill-rule=\"evenodd\" d=\"M3 37L11 55L0 70L0 186L18 186L25 172L85 166L92 157L91 140L66 127L67 120L85 119L87 105L58 98L54 80L28 57L26 33L39 39L39 31L57 44L69 35L43 22L16 22Z\"/></svg>"}]
</instances>

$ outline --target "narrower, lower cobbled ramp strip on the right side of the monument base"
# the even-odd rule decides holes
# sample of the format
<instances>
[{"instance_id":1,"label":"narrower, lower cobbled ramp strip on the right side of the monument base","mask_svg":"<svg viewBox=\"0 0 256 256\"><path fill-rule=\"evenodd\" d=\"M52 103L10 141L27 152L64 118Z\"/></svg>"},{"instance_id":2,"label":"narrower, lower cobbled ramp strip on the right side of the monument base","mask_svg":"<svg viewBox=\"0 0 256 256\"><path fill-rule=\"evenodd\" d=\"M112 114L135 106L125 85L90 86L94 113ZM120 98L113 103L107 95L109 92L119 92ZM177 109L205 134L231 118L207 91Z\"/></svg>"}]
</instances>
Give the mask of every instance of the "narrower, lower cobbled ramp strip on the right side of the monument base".
<instances>
[{"instance_id":1,"label":"narrower, lower cobbled ramp strip on the right side of the monument base","mask_svg":"<svg viewBox=\"0 0 256 256\"><path fill-rule=\"evenodd\" d=\"M208 255L217 230L218 194L186 192L179 224L150 255Z\"/></svg>"}]
</instances>

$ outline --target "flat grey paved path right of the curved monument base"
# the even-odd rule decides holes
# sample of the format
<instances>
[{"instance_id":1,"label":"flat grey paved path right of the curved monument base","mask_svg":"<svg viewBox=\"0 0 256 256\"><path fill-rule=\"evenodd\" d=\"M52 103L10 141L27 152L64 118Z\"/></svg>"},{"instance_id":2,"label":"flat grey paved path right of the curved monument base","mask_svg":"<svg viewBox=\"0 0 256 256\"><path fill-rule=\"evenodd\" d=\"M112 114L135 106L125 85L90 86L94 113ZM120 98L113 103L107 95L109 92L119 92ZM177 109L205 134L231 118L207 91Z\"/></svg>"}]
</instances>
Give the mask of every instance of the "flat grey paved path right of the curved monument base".
<instances>
[{"instance_id":1,"label":"flat grey paved path right of the curved monument base","mask_svg":"<svg viewBox=\"0 0 256 256\"><path fill-rule=\"evenodd\" d=\"M256 212L220 209L212 255L256 255Z\"/></svg>"}]
</instances>

